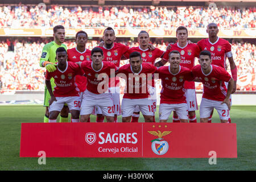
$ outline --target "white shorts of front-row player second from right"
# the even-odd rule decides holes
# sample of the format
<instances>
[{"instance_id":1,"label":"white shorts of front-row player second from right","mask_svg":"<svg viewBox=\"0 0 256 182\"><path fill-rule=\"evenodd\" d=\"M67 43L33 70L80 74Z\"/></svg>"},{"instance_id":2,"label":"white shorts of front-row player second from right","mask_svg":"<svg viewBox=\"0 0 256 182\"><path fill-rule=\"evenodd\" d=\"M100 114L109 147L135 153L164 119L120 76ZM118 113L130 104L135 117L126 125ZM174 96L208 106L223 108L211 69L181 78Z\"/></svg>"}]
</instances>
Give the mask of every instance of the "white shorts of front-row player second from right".
<instances>
[{"instance_id":1,"label":"white shorts of front-row player second from right","mask_svg":"<svg viewBox=\"0 0 256 182\"><path fill-rule=\"evenodd\" d=\"M180 119L188 119L188 105L181 104L160 104L159 119L168 119L172 111L176 111Z\"/></svg>"}]
</instances>

